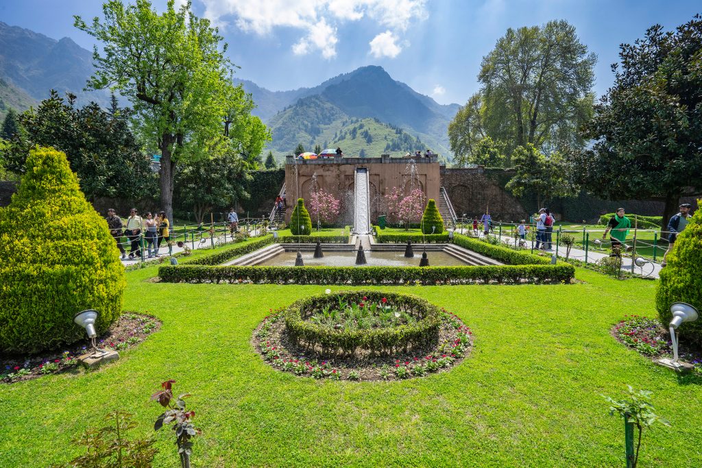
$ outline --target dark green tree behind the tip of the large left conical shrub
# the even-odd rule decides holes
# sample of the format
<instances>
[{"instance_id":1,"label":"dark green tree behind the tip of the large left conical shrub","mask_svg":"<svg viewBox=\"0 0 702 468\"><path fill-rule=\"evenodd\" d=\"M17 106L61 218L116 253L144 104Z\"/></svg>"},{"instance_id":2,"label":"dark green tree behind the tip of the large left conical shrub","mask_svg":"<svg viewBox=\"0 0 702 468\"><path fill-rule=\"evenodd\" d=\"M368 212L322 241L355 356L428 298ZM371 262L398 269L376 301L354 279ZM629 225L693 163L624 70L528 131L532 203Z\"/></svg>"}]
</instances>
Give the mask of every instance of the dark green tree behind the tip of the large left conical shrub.
<instances>
[{"instance_id":1,"label":"dark green tree behind the tip of the large left conical shrub","mask_svg":"<svg viewBox=\"0 0 702 468\"><path fill-rule=\"evenodd\" d=\"M150 158L131 131L129 109L116 107L105 112L95 102L76 108L74 101L74 95L64 100L52 90L37 109L20 115L25 131L22 138L13 138L6 151L6 167L25 173L30 148L54 147L66 154L88 199L140 199L155 194Z\"/></svg>"}]
</instances>

